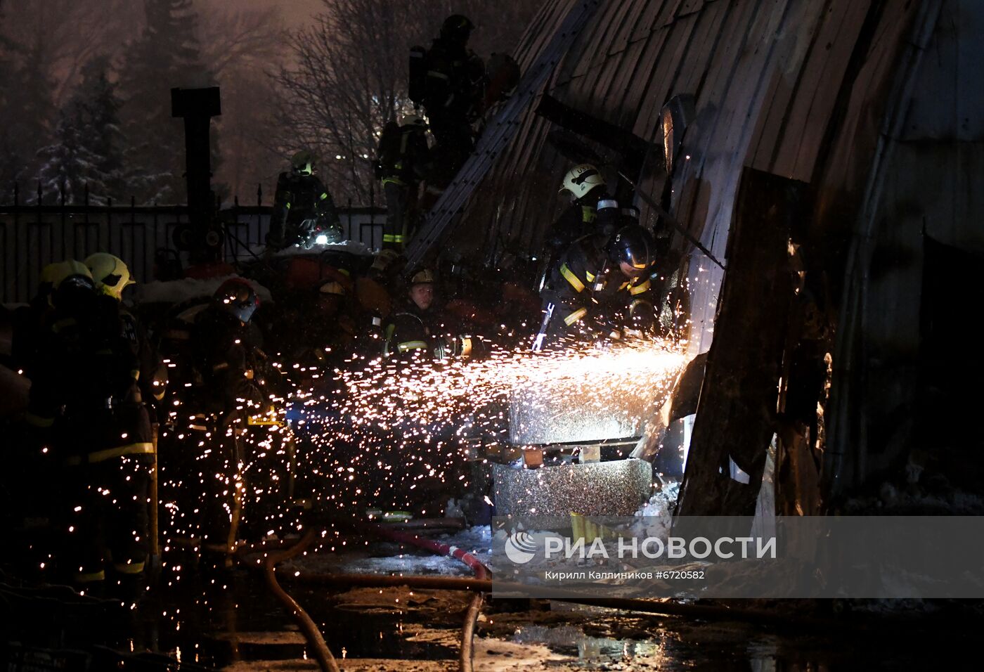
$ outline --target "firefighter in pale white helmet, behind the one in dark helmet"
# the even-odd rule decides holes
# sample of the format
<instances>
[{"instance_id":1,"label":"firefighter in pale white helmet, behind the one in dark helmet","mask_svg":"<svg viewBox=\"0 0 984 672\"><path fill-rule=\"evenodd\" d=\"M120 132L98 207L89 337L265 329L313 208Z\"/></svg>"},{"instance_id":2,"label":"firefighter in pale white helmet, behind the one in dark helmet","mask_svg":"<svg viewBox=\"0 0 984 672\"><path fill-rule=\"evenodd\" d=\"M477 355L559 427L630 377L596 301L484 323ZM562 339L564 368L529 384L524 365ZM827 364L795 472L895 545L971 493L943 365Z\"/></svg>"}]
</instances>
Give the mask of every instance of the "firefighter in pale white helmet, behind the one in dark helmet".
<instances>
[{"instance_id":1,"label":"firefighter in pale white helmet, behind the one in dark helmet","mask_svg":"<svg viewBox=\"0 0 984 672\"><path fill-rule=\"evenodd\" d=\"M571 244L586 235L611 235L618 228L618 203L608 194L601 171L590 163L567 171L558 194L567 195L570 206L564 210L543 238L536 291L541 291L558 257Z\"/></svg>"}]
</instances>

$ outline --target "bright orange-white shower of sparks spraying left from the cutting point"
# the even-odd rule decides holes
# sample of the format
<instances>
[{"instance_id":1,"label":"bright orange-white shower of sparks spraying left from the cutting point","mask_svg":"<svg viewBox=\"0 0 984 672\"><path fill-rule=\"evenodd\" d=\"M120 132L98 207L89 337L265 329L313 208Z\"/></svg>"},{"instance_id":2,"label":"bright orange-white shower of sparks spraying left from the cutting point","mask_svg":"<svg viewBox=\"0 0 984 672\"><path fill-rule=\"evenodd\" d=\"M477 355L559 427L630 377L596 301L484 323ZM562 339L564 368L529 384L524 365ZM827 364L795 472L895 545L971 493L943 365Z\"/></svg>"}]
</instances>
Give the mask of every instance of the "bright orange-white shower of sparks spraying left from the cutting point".
<instances>
[{"instance_id":1,"label":"bright orange-white shower of sparks spraying left from the cutting point","mask_svg":"<svg viewBox=\"0 0 984 672\"><path fill-rule=\"evenodd\" d=\"M175 403L161 436L181 456L162 451L162 548L231 551L237 536L296 532L312 509L438 515L466 492L475 462L508 443L511 398L565 390L603 414L616 397L666 390L686 363L683 344L668 339L541 352L486 346L472 359L282 361L273 368L287 385L270 386L277 394L262 407L244 400L225 422ZM337 530L321 543L339 544ZM181 579L180 562L165 567L169 581Z\"/></svg>"}]
</instances>

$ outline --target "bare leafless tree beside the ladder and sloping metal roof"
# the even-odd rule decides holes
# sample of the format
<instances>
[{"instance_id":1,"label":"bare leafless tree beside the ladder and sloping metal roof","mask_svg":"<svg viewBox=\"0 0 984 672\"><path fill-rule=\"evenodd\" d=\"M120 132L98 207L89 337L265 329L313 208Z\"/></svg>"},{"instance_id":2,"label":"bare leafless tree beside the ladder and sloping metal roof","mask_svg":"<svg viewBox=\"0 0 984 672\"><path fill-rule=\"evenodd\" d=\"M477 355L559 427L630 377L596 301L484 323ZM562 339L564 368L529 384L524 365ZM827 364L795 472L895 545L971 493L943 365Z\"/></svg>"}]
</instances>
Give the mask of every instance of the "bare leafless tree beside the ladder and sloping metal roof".
<instances>
[{"instance_id":1,"label":"bare leafless tree beside the ladder and sloping metal roof","mask_svg":"<svg viewBox=\"0 0 984 672\"><path fill-rule=\"evenodd\" d=\"M466 14L495 27L475 44L510 51L536 3L522 0L322 0L314 25L291 36L296 65L281 68L278 122L284 153L321 154L322 173L339 201L368 203L372 161L387 121L409 109L410 46L426 46L445 17ZM494 37L493 37L494 35ZM480 54L488 56L488 53Z\"/></svg>"}]
</instances>

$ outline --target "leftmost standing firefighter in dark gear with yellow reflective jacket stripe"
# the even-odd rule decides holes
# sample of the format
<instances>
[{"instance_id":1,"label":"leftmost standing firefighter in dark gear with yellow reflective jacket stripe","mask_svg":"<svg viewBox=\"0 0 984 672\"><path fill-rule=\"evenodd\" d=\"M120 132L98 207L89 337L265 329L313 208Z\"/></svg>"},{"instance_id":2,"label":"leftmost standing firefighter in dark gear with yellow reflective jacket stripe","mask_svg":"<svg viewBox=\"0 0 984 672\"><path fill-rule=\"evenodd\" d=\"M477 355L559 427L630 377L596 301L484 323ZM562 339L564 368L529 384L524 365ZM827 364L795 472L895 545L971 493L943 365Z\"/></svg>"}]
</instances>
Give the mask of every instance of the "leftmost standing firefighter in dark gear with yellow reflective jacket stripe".
<instances>
[{"instance_id":1,"label":"leftmost standing firefighter in dark gear with yellow reflective jacket stripe","mask_svg":"<svg viewBox=\"0 0 984 672\"><path fill-rule=\"evenodd\" d=\"M101 584L107 570L133 588L148 552L154 444L139 345L118 302L96 286L81 262L55 275L28 422L64 469L62 569L85 588Z\"/></svg>"}]
</instances>

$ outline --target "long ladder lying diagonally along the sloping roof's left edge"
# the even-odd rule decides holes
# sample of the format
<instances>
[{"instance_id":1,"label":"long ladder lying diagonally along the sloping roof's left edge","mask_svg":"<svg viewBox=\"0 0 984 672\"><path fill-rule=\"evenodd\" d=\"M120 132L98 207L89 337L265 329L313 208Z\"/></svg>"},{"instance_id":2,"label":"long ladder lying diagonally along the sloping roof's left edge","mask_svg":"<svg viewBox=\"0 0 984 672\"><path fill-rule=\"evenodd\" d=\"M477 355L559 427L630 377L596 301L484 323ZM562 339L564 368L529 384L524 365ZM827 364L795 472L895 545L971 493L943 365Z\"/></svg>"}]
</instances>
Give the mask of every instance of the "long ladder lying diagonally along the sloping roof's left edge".
<instances>
[{"instance_id":1,"label":"long ladder lying diagonally along the sloping roof's left edge","mask_svg":"<svg viewBox=\"0 0 984 672\"><path fill-rule=\"evenodd\" d=\"M601 4L601 0L581 0L565 17L554 32L550 42L523 74L516 92L503 105L495 120L486 127L478 140L478 146L458 175L434 204L420 230L406 247L407 268L418 266L451 232L456 217L464 208L471 192L482 181L496 157L509 145L529 109L533 99L543 90L547 79L554 72L560 59L574 43L588 20Z\"/></svg>"}]
</instances>

